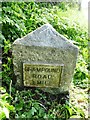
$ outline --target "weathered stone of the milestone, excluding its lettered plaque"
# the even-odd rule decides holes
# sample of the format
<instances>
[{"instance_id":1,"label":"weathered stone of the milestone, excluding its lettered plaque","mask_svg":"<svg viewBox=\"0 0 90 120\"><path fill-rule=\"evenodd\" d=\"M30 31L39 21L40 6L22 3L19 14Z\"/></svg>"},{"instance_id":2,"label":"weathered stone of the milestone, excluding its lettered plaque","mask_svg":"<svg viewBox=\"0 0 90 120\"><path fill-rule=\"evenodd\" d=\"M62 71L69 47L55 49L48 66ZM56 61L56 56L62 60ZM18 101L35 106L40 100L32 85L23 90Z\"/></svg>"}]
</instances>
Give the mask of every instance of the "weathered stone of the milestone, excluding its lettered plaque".
<instances>
[{"instance_id":1,"label":"weathered stone of the milestone, excluding its lettered plaque","mask_svg":"<svg viewBox=\"0 0 90 120\"><path fill-rule=\"evenodd\" d=\"M59 88L44 87L41 89L53 94L69 91L77 55L78 48L75 45L60 35L50 24L45 24L13 43L16 85L24 86L23 63L63 64Z\"/></svg>"}]
</instances>

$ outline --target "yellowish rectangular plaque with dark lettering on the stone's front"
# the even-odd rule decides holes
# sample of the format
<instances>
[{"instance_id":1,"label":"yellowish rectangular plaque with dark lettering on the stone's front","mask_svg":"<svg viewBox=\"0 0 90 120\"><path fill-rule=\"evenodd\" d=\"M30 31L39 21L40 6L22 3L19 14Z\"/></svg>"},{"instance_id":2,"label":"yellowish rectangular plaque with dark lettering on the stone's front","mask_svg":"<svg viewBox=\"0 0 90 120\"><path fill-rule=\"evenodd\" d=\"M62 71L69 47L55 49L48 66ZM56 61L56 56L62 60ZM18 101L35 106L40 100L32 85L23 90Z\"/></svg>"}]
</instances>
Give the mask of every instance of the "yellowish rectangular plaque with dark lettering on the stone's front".
<instances>
[{"instance_id":1,"label":"yellowish rectangular plaque with dark lettering on the stone's front","mask_svg":"<svg viewBox=\"0 0 90 120\"><path fill-rule=\"evenodd\" d=\"M59 87L61 80L60 65L23 64L23 79L25 86Z\"/></svg>"}]
</instances>

